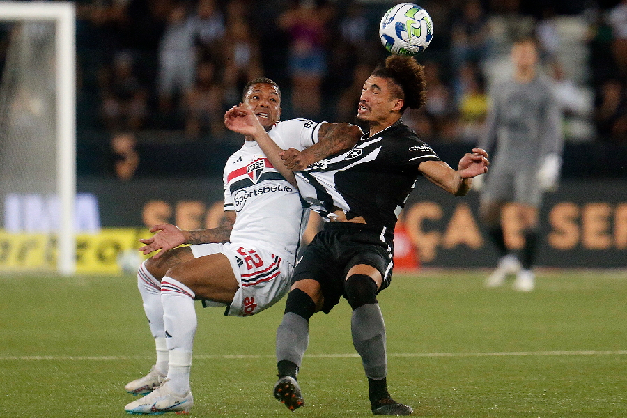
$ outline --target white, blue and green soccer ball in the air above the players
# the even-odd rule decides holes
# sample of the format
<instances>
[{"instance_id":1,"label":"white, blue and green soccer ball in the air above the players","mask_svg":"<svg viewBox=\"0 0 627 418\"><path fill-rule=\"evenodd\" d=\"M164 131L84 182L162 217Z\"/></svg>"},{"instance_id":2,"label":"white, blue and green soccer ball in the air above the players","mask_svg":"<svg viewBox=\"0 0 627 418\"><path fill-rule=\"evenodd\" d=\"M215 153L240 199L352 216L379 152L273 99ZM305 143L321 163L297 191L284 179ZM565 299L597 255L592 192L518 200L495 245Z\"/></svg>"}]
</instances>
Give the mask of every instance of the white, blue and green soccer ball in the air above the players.
<instances>
[{"instance_id":1,"label":"white, blue and green soccer ball in the air above the players","mask_svg":"<svg viewBox=\"0 0 627 418\"><path fill-rule=\"evenodd\" d=\"M396 55L423 52L433 38L433 21L424 8L412 3L387 10L379 25L381 43Z\"/></svg>"}]
</instances>

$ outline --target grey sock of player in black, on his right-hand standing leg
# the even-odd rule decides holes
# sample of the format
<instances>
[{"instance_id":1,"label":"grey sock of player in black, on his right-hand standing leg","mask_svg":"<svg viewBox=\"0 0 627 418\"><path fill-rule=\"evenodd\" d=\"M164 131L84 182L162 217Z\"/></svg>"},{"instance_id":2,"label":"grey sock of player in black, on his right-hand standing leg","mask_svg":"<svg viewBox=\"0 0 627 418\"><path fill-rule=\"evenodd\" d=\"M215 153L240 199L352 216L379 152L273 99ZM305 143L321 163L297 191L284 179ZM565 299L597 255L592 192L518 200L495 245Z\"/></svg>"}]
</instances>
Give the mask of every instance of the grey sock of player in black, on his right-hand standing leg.
<instances>
[{"instance_id":1,"label":"grey sock of player in black, on his right-hand standing leg","mask_svg":"<svg viewBox=\"0 0 627 418\"><path fill-rule=\"evenodd\" d=\"M387 376L385 324L379 304L365 304L353 311L350 320L353 346L362 357L366 376L382 379Z\"/></svg>"}]
</instances>

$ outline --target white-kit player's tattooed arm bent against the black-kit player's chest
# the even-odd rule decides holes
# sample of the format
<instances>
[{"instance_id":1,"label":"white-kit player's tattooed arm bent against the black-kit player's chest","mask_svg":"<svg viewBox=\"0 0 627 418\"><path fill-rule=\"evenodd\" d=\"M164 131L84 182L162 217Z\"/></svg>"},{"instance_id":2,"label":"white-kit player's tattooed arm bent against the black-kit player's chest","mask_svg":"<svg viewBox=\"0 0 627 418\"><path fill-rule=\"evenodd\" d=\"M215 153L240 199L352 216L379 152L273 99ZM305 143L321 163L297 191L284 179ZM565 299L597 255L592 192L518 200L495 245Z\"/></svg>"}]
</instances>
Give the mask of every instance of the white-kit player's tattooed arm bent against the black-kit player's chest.
<instances>
[{"instance_id":1,"label":"white-kit player's tattooed arm bent against the black-kit player's chest","mask_svg":"<svg viewBox=\"0 0 627 418\"><path fill-rule=\"evenodd\" d=\"M291 171L301 171L327 157L353 148L364 132L350 123L323 123L318 130L318 142L302 151L290 148L279 153L284 165Z\"/></svg>"}]
</instances>

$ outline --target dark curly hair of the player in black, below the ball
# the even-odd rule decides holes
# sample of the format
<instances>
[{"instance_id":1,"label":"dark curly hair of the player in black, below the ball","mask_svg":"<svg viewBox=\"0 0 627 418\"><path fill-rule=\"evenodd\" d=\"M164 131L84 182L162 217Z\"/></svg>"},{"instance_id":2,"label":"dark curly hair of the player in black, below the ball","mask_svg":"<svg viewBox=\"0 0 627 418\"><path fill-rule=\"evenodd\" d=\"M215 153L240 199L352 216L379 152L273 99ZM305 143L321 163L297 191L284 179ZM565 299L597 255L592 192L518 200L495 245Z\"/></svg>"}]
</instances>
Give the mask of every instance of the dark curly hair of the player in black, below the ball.
<instances>
[{"instance_id":1,"label":"dark curly hair of the player in black, below the ball","mask_svg":"<svg viewBox=\"0 0 627 418\"><path fill-rule=\"evenodd\" d=\"M390 79L398 87L393 88L392 93L404 100L401 113L408 107L419 109L426 103L424 66L411 56L390 55L385 63L375 68L372 75Z\"/></svg>"}]
</instances>

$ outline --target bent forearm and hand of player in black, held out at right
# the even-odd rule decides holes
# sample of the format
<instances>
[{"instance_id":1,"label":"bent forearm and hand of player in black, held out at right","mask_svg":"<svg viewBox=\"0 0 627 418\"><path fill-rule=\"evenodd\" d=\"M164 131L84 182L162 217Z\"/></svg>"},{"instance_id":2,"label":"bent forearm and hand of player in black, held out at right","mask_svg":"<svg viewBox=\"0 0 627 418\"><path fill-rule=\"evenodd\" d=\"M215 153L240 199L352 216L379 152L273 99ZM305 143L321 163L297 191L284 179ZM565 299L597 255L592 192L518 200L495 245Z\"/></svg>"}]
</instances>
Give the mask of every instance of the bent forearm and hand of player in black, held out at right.
<instances>
[{"instance_id":1,"label":"bent forearm and hand of player in black, held out at right","mask_svg":"<svg viewBox=\"0 0 627 418\"><path fill-rule=\"evenodd\" d=\"M465 196L470 190L472 178L488 172L488 153L481 148L473 148L459 160L458 169L451 169L443 161L425 161L419 170L431 182L442 187L454 196Z\"/></svg>"}]
</instances>

